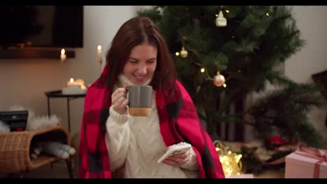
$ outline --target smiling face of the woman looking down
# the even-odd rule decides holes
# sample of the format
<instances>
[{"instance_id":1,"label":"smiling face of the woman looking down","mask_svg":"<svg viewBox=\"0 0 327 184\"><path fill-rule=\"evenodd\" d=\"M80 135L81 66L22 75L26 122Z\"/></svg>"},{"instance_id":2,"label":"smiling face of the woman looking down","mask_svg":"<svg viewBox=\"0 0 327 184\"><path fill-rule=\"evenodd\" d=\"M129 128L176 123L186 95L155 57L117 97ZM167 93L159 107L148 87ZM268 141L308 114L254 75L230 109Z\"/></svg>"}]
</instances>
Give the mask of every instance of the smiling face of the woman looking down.
<instances>
[{"instance_id":1,"label":"smiling face of the woman looking down","mask_svg":"<svg viewBox=\"0 0 327 184\"><path fill-rule=\"evenodd\" d=\"M142 85L152 78L157 68L157 47L152 45L137 45L131 49L123 73L136 85Z\"/></svg>"}]
</instances>

